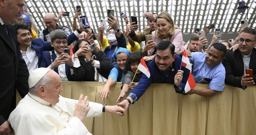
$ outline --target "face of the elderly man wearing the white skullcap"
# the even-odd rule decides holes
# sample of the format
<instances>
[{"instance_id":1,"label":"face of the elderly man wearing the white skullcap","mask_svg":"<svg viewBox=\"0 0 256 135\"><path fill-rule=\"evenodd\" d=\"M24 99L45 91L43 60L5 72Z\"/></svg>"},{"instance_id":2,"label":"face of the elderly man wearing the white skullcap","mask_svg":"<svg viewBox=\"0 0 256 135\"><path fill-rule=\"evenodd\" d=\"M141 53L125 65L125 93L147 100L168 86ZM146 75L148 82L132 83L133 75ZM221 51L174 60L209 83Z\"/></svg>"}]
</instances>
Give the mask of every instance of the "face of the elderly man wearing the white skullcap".
<instances>
[{"instance_id":1,"label":"face of the elderly man wearing the white skullcap","mask_svg":"<svg viewBox=\"0 0 256 135\"><path fill-rule=\"evenodd\" d=\"M56 105L59 102L59 94L63 91L61 86L60 76L53 70L50 70L47 74L50 74L50 81L48 86L45 87L45 98L44 100Z\"/></svg>"}]
</instances>

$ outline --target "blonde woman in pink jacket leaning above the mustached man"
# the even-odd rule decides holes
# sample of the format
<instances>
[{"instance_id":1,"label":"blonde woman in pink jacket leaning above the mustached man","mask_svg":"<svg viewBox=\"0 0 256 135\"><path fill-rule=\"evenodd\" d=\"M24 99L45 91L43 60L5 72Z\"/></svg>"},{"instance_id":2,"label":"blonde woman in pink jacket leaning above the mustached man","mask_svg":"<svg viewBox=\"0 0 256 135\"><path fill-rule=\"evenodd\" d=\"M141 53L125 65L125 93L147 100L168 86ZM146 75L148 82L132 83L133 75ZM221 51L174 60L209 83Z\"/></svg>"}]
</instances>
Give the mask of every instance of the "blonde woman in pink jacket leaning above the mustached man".
<instances>
[{"instance_id":1,"label":"blonde woman in pink jacket leaning above the mustached man","mask_svg":"<svg viewBox=\"0 0 256 135\"><path fill-rule=\"evenodd\" d=\"M153 55L155 46L163 40L169 40L174 44L175 53L184 50L182 32L174 25L171 15L166 11L157 16L156 30L152 32L152 37L153 41L148 41L146 50L143 51L147 56Z\"/></svg>"}]
</instances>

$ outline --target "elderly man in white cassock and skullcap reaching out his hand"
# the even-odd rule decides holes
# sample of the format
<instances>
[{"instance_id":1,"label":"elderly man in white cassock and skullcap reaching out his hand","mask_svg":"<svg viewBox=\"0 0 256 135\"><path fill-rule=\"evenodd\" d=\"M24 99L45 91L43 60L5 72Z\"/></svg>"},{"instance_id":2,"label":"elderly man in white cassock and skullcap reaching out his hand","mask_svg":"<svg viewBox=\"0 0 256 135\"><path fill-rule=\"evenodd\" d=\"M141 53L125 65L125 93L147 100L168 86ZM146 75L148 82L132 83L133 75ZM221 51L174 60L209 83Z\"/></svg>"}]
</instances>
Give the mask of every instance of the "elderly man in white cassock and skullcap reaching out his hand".
<instances>
[{"instance_id":1,"label":"elderly man in white cassock and skullcap reaching out his hand","mask_svg":"<svg viewBox=\"0 0 256 135\"><path fill-rule=\"evenodd\" d=\"M63 91L60 76L53 70L38 68L28 78L29 92L9 116L16 135L91 135L83 124L85 117L102 112L124 115L120 106L79 101L59 95Z\"/></svg>"}]
</instances>

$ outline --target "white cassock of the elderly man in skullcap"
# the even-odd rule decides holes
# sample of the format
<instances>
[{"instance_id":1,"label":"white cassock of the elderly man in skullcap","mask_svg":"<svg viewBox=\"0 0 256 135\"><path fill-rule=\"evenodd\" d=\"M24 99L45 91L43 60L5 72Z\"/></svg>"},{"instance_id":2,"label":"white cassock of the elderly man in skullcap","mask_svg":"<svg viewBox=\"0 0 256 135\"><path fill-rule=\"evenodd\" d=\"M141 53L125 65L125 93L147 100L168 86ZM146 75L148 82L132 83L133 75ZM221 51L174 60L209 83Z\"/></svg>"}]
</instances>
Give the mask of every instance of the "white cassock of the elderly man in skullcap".
<instances>
[{"instance_id":1,"label":"white cassock of the elderly man in skullcap","mask_svg":"<svg viewBox=\"0 0 256 135\"><path fill-rule=\"evenodd\" d=\"M67 112L63 114L57 106L53 107L60 112L50 107L50 103L43 99L28 94L19 102L8 119L16 135L91 135L82 121L78 117L73 117L74 106L78 100L60 96L57 105ZM102 104L89 102L89 106L90 110L86 117L101 116ZM72 117L68 116L68 113Z\"/></svg>"}]
</instances>

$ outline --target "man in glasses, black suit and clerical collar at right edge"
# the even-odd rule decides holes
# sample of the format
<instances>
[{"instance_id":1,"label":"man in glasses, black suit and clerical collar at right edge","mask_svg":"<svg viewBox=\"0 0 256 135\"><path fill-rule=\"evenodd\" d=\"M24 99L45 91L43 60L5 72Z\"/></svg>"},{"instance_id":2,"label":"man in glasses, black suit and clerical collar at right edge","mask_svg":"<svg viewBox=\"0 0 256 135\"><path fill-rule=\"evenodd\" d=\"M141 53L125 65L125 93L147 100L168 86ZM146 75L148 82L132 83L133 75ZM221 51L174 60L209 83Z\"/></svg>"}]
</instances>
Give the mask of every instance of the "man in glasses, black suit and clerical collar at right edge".
<instances>
[{"instance_id":1,"label":"man in glasses, black suit and clerical collar at right edge","mask_svg":"<svg viewBox=\"0 0 256 135\"><path fill-rule=\"evenodd\" d=\"M226 69L225 82L228 85L245 89L256 81L256 30L244 29L238 39L238 50L228 50L222 64ZM246 74L246 69L253 70L253 78Z\"/></svg>"}]
</instances>

